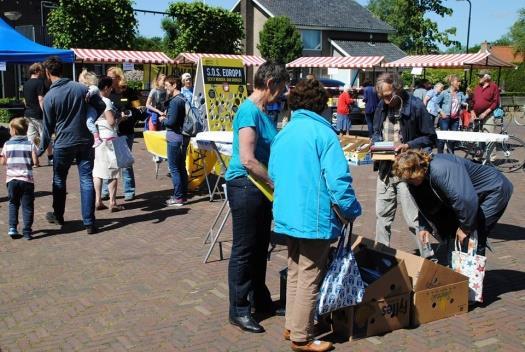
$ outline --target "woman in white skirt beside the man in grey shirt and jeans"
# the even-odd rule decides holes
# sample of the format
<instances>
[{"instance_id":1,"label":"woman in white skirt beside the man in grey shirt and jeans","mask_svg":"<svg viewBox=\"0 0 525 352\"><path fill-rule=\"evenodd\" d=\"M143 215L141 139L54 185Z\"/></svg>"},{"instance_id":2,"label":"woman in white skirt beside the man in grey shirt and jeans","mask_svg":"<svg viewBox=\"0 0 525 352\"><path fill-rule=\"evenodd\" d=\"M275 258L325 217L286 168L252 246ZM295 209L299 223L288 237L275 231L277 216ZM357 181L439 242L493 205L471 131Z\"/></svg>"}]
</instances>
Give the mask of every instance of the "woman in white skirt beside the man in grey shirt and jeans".
<instances>
[{"instance_id":1,"label":"woman in white skirt beside the man in grey shirt and jeans","mask_svg":"<svg viewBox=\"0 0 525 352\"><path fill-rule=\"evenodd\" d=\"M95 209L104 210L107 206L102 203L102 180L108 180L109 190L109 209L111 212L123 210L121 205L117 204L117 183L119 167L117 157L113 147L113 141L118 137L115 117L115 108L109 99L112 91L113 79L108 76L100 77L98 88L102 100L106 104L106 110L96 121L102 144L95 148L95 162L93 166L93 183L95 186Z\"/></svg>"}]
</instances>

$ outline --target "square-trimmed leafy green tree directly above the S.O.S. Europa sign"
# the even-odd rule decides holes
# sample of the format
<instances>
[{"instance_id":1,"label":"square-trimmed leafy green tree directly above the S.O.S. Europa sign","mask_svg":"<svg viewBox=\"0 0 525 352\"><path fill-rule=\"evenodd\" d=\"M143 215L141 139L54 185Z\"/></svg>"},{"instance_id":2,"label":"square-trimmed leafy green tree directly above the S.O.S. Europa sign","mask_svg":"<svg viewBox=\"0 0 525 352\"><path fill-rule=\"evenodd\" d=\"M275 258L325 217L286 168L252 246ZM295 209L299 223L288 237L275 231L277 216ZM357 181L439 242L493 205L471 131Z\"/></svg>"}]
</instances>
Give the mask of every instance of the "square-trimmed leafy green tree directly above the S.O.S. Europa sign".
<instances>
[{"instance_id":1,"label":"square-trimmed leafy green tree directly above the S.O.S. Europa sign","mask_svg":"<svg viewBox=\"0 0 525 352\"><path fill-rule=\"evenodd\" d=\"M203 2L172 3L167 12L175 19L162 21L171 55L181 52L241 52L244 26L240 14Z\"/></svg>"}]
</instances>

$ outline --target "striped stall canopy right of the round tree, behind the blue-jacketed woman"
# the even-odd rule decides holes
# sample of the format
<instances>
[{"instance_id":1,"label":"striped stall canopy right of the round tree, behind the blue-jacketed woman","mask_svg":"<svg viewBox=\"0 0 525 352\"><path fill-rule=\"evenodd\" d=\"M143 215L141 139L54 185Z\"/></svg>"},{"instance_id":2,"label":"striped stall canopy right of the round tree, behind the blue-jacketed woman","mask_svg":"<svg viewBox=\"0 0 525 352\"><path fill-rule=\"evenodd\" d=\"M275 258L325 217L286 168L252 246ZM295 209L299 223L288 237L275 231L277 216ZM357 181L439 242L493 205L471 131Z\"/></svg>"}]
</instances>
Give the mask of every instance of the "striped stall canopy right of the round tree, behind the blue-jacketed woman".
<instances>
[{"instance_id":1,"label":"striped stall canopy right of the round tree, behind the blue-jacketed woman","mask_svg":"<svg viewBox=\"0 0 525 352\"><path fill-rule=\"evenodd\" d=\"M372 68L383 60L384 56L306 56L295 59L286 67Z\"/></svg>"}]
</instances>

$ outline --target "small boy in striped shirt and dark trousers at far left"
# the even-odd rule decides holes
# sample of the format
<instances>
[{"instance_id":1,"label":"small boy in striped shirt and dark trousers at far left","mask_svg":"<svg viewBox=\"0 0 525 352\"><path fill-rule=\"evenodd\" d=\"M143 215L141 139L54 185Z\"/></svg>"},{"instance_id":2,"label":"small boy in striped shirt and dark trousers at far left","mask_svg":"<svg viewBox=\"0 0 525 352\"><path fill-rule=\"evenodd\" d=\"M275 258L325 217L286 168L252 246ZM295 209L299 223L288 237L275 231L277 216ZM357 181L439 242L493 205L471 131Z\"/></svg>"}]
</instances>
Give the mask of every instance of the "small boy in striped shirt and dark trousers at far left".
<instances>
[{"instance_id":1,"label":"small boy in striped shirt and dark trousers at far left","mask_svg":"<svg viewBox=\"0 0 525 352\"><path fill-rule=\"evenodd\" d=\"M35 185L33 165L38 166L37 148L27 139L28 121L17 117L9 123L11 138L5 142L0 153L2 165L6 165L7 195L9 199L9 232L12 239L19 238L18 209L22 205L26 240L32 239Z\"/></svg>"}]
</instances>

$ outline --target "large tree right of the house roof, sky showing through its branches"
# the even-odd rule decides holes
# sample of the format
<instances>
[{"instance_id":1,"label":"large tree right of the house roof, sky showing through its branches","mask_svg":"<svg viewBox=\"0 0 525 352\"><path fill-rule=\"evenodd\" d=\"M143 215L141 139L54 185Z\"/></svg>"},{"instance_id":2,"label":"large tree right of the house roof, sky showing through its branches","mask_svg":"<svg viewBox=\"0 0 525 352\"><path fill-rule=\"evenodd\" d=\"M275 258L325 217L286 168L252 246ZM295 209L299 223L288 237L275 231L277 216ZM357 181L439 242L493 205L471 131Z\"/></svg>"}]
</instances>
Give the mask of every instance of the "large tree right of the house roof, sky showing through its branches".
<instances>
[{"instance_id":1,"label":"large tree right of the house roof, sky showing through its branches","mask_svg":"<svg viewBox=\"0 0 525 352\"><path fill-rule=\"evenodd\" d=\"M425 18L427 13L450 16L452 9L442 5L443 0L370 0L368 9L396 30L390 40L410 54L438 52L438 44L459 46L449 35L456 28L440 32L436 22Z\"/></svg>"}]
</instances>

